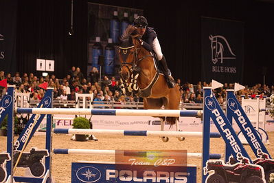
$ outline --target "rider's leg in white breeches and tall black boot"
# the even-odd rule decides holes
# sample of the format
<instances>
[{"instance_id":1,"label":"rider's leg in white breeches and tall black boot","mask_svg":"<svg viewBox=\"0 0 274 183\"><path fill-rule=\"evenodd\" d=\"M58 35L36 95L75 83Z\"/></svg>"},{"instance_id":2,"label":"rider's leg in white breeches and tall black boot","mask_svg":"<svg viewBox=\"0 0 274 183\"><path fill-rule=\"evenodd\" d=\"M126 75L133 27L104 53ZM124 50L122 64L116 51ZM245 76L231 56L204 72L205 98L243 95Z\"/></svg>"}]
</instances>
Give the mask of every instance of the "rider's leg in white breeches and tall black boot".
<instances>
[{"instance_id":1,"label":"rider's leg in white breeches and tall black boot","mask_svg":"<svg viewBox=\"0 0 274 183\"><path fill-rule=\"evenodd\" d=\"M165 80L168 84L169 88L172 88L175 86L174 80L168 75L168 64L165 61L165 56L163 56L161 52L161 46L157 39L157 37L152 42L152 48L155 51L158 60L160 61L161 65L163 66L163 74L165 75Z\"/></svg>"}]
</instances>

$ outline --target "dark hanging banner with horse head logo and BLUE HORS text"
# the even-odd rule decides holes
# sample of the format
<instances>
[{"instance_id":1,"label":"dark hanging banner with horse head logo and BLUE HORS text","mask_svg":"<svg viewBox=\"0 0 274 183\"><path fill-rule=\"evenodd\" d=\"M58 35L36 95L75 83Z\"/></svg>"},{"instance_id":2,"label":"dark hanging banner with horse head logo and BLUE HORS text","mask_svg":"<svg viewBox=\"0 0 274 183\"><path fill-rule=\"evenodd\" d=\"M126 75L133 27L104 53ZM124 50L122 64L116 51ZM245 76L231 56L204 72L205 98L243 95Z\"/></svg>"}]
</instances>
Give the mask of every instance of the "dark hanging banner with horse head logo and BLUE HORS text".
<instances>
[{"instance_id":1,"label":"dark hanging banner with horse head logo and BLUE HORS text","mask_svg":"<svg viewBox=\"0 0 274 183\"><path fill-rule=\"evenodd\" d=\"M244 23L206 17L201 22L202 80L241 83Z\"/></svg>"}]
</instances>

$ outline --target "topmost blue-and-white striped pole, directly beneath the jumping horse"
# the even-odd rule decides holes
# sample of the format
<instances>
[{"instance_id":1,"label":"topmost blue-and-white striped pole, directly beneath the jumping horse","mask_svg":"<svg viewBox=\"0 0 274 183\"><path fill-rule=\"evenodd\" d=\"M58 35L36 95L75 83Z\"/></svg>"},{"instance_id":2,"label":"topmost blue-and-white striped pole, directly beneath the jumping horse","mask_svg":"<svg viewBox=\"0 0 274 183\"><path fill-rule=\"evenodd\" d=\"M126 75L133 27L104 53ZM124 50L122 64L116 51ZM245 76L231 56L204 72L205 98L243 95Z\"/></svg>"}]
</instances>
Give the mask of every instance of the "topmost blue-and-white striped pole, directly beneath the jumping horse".
<instances>
[{"instance_id":1,"label":"topmost blue-and-white striped pole, directly beneath the jumping horse","mask_svg":"<svg viewBox=\"0 0 274 183\"><path fill-rule=\"evenodd\" d=\"M203 114L198 110L159 110L159 109L41 109L16 108L18 114L75 114L75 115L103 115L103 116L159 116L159 117L198 117Z\"/></svg>"}]
</instances>

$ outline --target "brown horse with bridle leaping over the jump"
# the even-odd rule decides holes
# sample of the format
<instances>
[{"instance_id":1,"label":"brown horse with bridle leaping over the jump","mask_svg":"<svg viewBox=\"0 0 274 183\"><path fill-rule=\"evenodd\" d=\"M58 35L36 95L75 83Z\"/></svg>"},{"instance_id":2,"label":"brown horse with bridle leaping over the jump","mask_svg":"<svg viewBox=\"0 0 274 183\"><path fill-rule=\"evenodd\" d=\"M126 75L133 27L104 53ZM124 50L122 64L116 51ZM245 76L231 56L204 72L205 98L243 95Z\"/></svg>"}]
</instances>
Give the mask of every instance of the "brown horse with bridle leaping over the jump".
<instances>
[{"instance_id":1,"label":"brown horse with bridle leaping over the jump","mask_svg":"<svg viewBox=\"0 0 274 183\"><path fill-rule=\"evenodd\" d=\"M155 56L141 46L137 40L139 36L136 28L129 25L119 40L119 74L123 93L143 97L144 109L179 109L179 85L168 87L163 74L159 73L155 65ZM166 121L170 127L176 124L176 130L179 131L178 117L159 118L161 130Z\"/></svg>"}]
</instances>

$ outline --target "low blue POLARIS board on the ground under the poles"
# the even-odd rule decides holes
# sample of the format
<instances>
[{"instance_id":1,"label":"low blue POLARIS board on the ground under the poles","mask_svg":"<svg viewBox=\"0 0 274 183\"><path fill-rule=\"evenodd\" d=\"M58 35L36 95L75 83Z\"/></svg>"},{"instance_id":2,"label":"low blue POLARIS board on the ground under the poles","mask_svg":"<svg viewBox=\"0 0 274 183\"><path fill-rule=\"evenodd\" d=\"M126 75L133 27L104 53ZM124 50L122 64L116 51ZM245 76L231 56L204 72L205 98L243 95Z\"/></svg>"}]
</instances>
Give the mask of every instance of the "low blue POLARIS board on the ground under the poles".
<instances>
[{"instance_id":1,"label":"low blue POLARIS board on the ground under the poles","mask_svg":"<svg viewBox=\"0 0 274 183\"><path fill-rule=\"evenodd\" d=\"M71 163L71 182L196 182L196 166Z\"/></svg>"}]
</instances>

